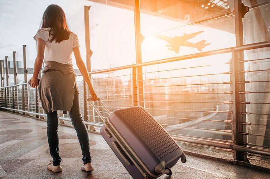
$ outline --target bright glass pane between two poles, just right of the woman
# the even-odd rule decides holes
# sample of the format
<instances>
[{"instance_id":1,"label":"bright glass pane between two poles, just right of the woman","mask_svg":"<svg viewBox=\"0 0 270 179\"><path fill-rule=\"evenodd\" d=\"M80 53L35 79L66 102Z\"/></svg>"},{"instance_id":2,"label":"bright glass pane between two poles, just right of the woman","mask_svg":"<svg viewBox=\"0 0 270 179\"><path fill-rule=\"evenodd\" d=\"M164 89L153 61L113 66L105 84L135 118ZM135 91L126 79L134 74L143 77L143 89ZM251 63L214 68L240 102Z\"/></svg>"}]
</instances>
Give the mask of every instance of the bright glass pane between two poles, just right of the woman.
<instances>
[{"instance_id":1,"label":"bright glass pane between two poles, just right of the woman","mask_svg":"<svg viewBox=\"0 0 270 179\"><path fill-rule=\"evenodd\" d=\"M133 7L94 3L89 10L92 71L134 64L135 33Z\"/></svg>"}]
</instances>

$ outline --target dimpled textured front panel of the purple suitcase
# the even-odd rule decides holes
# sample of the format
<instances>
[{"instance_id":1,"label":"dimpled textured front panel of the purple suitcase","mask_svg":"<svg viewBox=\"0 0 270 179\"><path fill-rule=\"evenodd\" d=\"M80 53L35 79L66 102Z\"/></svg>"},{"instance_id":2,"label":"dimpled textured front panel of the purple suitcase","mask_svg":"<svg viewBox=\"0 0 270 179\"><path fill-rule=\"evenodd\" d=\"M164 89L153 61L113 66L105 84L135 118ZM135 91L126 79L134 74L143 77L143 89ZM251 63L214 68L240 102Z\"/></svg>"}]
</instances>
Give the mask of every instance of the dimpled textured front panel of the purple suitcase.
<instances>
[{"instance_id":1,"label":"dimpled textured front panel of the purple suitcase","mask_svg":"<svg viewBox=\"0 0 270 179\"><path fill-rule=\"evenodd\" d=\"M180 149L171 136L144 108L133 108L121 111L120 113L133 126L159 159L163 159Z\"/></svg>"}]
</instances>

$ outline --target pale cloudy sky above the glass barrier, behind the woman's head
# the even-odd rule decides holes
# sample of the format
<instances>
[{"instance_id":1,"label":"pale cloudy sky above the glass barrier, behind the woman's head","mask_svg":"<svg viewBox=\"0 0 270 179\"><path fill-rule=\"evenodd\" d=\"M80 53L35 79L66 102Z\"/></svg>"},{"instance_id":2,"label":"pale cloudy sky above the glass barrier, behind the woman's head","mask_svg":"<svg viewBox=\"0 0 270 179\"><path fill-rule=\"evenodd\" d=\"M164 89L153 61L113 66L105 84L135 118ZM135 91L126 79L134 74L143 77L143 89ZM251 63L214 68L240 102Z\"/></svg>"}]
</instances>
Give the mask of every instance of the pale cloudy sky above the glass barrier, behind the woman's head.
<instances>
[{"instance_id":1,"label":"pale cloudy sky above the glass barrier, behind the woman's head","mask_svg":"<svg viewBox=\"0 0 270 179\"><path fill-rule=\"evenodd\" d=\"M50 4L60 5L67 19L83 11L87 0L0 0L0 59L22 45L33 43L43 12Z\"/></svg>"}]
</instances>

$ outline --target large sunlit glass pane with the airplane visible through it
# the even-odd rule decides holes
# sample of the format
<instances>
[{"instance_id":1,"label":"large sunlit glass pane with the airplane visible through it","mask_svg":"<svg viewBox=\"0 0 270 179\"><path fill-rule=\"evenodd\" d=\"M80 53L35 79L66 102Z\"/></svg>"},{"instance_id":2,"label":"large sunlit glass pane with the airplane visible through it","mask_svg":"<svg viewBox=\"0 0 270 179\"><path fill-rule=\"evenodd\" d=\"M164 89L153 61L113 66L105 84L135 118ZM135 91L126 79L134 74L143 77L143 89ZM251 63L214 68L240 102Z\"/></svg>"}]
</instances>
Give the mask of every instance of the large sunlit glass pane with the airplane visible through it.
<instances>
[{"instance_id":1,"label":"large sunlit glass pane with the airplane visible through it","mask_svg":"<svg viewBox=\"0 0 270 179\"><path fill-rule=\"evenodd\" d=\"M143 62L235 46L234 16L229 5L161 2L150 5L141 1Z\"/></svg>"}]
</instances>

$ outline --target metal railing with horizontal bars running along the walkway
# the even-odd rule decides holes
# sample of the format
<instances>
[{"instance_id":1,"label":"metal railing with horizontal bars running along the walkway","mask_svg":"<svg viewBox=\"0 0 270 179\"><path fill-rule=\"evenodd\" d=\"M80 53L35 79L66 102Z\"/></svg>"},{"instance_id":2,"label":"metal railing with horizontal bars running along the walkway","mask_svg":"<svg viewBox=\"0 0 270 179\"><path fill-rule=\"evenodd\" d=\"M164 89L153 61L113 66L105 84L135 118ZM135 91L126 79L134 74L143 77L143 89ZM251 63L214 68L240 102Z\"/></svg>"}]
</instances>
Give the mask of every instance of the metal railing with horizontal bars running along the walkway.
<instances>
[{"instance_id":1,"label":"metal railing with horizontal bars running along the walkway","mask_svg":"<svg viewBox=\"0 0 270 179\"><path fill-rule=\"evenodd\" d=\"M224 150L225 152L232 154L240 152L242 156L247 157L246 160L256 160L256 158L259 158L260 160L268 161L266 156L270 155L270 146L268 141L270 136L265 135L265 131L269 130L269 124L247 122L246 118L243 118L243 116L255 114L269 116L270 114L267 111L261 113L247 111L246 109L248 109L248 107L246 107L246 105L268 105L270 101L268 98L265 99L268 101L261 102L245 101L243 97L253 93L267 94L269 91L246 91L245 86L240 88L242 85L248 83L245 81L245 76L243 75L246 73L251 73L252 70L239 70L241 69L240 66L243 65L244 62L250 60L237 60L238 57L236 55L238 51L246 51L264 47L270 47L270 42L254 43L241 47L232 47L141 64L98 70L89 72L89 74L92 76L92 83L97 91L98 96L104 101L111 112L119 108L141 105L144 106L162 124L162 126L175 140L182 143L184 142L183 145L188 143L194 145L194 147L204 146L209 147L211 150ZM173 85L167 85L167 81L163 81L163 83L157 82L157 85L148 83L155 80L173 80L175 78L181 79L189 78L190 76L207 75L200 74L179 76L177 73L177 76L171 76L171 78L149 78L146 76L146 74L149 73L164 73L164 75L167 75L166 72L171 72L173 70L181 71L190 69L190 67L179 68L179 66L176 66L175 69L155 70L155 68L152 68L151 71L145 70L145 72L142 72L142 80L144 81L143 86L139 86L139 79L137 78L138 67L147 68L153 65L170 64L188 59L199 60L201 57L225 53L232 54L231 59L228 59L228 62L224 64L229 66L229 72L209 74L212 76L227 75L226 78L218 78L218 82L211 83L211 80L215 80L215 78L212 78L208 79L210 80L209 83L197 82ZM254 60L259 61L265 59ZM201 66L192 65L192 68L201 68ZM268 70L263 69L256 71ZM110 76L105 78L98 77L100 74L108 74L108 72L111 72ZM113 73L121 75L113 75ZM81 75L77 75L77 78L81 78ZM121 81L121 79L123 79L123 81ZM223 79L226 79L226 81L220 81ZM243 83L243 81L246 83ZM83 80L77 79L77 82L83 83ZM183 81L177 82L183 83ZM268 79L256 81L256 83L268 82ZM211 87L200 88L200 86L209 85ZM185 88L183 88L183 86ZM187 88L187 86L189 87ZM190 86L196 88L192 89ZM143 94L139 93L140 88L143 89ZM154 90L155 88L159 88L159 90ZM164 90L165 88L167 88L167 91ZM173 91L171 90L172 88L176 88L176 90ZM214 91L214 89L219 90ZM84 108L82 110L83 113L85 113L84 118L86 118L84 123L90 126L95 126L96 129L100 128L103 125L102 121L95 111L90 107L90 105L85 103L86 99L90 97L88 87L85 85L85 83L83 83L83 86L80 86L80 91L84 92L84 94L81 95L82 100L80 100L81 106ZM196 97L198 95L200 96L199 98ZM219 97L218 95L226 96L221 97L221 99L224 98L226 100L217 99L217 97ZM30 88L28 83L1 87L0 96L1 109L3 110L9 110L15 113L30 115L33 117L46 117L46 114L43 114L42 111L37 109L39 108L39 102L36 89ZM190 99L190 97L186 96L193 96L193 98ZM202 98L202 96L204 96L204 98ZM202 104L205 106L204 108L202 108ZM102 106L98 106L98 108L101 114L104 114L104 117L107 118L108 115L106 114L106 111L102 109ZM62 116L60 119L70 121L68 116ZM258 133L247 132L246 126L251 125L263 126L263 128L259 128ZM263 130L264 133L261 130ZM264 142L250 143L247 140L247 136L263 137ZM238 161L236 156L234 156L234 160Z\"/></svg>"}]
</instances>

